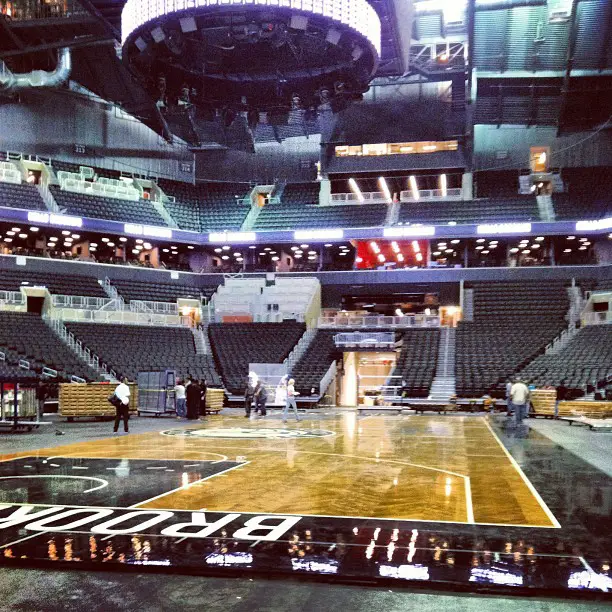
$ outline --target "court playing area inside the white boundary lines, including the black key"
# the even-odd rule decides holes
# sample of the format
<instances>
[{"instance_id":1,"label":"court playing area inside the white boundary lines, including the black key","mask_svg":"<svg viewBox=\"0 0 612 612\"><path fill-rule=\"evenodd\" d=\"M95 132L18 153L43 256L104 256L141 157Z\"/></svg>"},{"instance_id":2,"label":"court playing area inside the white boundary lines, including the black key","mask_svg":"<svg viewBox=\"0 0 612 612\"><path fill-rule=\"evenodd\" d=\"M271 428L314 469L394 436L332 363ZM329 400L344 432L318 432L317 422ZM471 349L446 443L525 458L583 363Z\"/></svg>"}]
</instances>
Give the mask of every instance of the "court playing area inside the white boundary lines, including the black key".
<instances>
[{"instance_id":1,"label":"court playing area inside the white boundary lines, including the black key","mask_svg":"<svg viewBox=\"0 0 612 612\"><path fill-rule=\"evenodd\" d=\"M486 417L174 423L4 458L2 500L559 527Z\"/></svg>"}]
</instances>

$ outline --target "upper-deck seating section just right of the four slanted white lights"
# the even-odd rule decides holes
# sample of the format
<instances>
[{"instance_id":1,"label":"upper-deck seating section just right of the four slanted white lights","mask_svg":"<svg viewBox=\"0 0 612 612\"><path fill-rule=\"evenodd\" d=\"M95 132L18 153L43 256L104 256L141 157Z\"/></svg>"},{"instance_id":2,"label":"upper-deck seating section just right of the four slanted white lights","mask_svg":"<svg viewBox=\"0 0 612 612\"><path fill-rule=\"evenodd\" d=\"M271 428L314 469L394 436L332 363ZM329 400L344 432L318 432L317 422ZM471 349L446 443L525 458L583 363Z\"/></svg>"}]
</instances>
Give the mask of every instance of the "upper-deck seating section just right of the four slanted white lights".
<instances>
[{"instance_id":1,"label":"upper-deck seating section just right of the four slanted white lights","mask_svg":"<svg viewBox=\"0 0 612 612\"><path fill-rule=\"evenodd\" d=\"M398 223L482 223L489 221L539 221L533 196L458 202L406 202Z\"/></svg>"}]
</instances>

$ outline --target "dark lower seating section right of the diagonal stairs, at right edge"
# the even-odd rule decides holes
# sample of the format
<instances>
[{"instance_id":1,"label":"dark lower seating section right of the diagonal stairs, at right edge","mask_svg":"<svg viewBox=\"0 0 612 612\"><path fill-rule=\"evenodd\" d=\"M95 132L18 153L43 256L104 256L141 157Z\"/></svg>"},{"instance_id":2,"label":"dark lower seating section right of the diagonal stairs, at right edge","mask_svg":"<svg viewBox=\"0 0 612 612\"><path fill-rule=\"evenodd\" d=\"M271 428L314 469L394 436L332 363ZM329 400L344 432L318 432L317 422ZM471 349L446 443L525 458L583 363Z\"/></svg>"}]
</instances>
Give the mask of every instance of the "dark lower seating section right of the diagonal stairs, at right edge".
<instances>
[{"instance_id":1,"label":"dark lower seating section right of the diagonal stairs, at right edge","mask_svg":"<svg viewBox=\"0 0 612 612\"><path fill-rule=\"evenodd\" d=\"M561 382L569 389L584 389L612 374L612 325L591 325L554 355L541 355L522 372L536 386Z\"/></svg>"}]
</instances>

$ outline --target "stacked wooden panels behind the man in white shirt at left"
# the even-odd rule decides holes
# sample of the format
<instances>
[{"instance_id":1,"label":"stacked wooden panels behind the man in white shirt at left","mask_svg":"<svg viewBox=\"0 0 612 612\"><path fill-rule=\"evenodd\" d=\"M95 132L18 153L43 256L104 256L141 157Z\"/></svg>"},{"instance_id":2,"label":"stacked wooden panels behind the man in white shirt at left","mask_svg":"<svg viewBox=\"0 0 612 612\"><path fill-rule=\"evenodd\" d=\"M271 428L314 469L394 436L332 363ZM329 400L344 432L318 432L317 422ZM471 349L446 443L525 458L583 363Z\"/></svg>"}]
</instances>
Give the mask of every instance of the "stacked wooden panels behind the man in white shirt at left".
<instances>
[{"instance_id":1,"label":"stacked wooden panels behind the man in white shirt at left","mask_svg":"<svg viewBox=\"0 0 612 612\"><path fill-rule=\"evenodd\" d=\"M69 421L80 417L102 418L115 416L115 408L108 396L115 390L108 383L62 383L59 390L59 414ZM130 414L138 406L138 388L130 384Z\"/></svg>"}]
</instances>

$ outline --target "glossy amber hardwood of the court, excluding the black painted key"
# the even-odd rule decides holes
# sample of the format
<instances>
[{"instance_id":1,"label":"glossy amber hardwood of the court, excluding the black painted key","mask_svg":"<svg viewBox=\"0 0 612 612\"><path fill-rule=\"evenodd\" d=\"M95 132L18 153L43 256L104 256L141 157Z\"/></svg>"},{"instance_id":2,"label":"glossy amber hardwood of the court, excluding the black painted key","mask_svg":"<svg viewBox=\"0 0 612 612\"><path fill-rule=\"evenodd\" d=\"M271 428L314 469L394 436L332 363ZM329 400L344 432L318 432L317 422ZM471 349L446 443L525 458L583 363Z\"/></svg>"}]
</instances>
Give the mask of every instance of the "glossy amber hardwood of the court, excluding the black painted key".
<instances>
[{"instance_id":1,"label":"glossy amber hardwood of the court, excluding the black painted key","mask_svg":"<svg viewBox=\"0 0 612 612\"><path fill-rule=\"evenodd\" d=\"M161 433L10 456L26 455L238 462L140 508L559 527L487 417L168 420Z\"/></svg>"}]
</instances>

